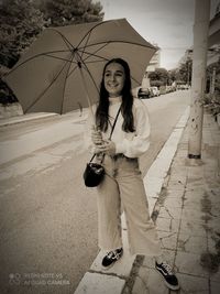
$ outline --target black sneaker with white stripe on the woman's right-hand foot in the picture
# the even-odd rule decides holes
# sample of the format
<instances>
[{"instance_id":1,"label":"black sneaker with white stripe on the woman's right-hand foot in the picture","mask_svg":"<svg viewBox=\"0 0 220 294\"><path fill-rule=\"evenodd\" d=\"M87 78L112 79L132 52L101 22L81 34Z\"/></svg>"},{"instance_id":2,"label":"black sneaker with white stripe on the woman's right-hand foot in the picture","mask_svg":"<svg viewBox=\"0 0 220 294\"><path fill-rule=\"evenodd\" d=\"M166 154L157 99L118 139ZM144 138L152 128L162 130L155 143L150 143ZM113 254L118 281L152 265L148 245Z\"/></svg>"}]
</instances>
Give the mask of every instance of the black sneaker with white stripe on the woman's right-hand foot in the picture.
<instances>
[{"instance_id":1,"label":"black sneaker with white stripe on the woman's right-hand foot in the picture","mask_svg":"<svg viewBox=\"0 0 220 294\"><path fill-rule=\"evenodd\" d=\"M168 265L166 262L157 263L155 262L156 270L161 273L161 275L164 277L164 282L170 290L178 290L179 284L176 275L172 271L170 265Z\"/></svg>"}]
</instances>

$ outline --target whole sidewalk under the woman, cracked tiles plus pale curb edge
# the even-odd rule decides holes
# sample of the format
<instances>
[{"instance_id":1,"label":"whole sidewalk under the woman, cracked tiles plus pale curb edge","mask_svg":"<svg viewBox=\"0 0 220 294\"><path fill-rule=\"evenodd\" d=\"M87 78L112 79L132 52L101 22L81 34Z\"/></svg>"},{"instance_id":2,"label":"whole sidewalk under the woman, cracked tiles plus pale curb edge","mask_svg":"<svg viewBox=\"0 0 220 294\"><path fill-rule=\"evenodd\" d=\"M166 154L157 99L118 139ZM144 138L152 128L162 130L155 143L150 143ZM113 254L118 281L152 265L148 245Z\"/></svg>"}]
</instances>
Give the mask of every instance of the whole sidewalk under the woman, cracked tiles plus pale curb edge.
<instances>
[{"instance_id":1,"label":"whole sidewalk under the woman, cracked tiles plus pale curb edge","mask_svg":"<svg viewBox=\"0 0 220 294\"><path fill-rule=\"evenodd\" d=\"M129 254L123 225L123 258L102 272L100 252L75 294L220 293L220 129L205 115L202 164L194 166L187 160L187 119L186 111L144 178L163 252L180 290L167 290L152 259Z\"/></svg>"}]
</instances>

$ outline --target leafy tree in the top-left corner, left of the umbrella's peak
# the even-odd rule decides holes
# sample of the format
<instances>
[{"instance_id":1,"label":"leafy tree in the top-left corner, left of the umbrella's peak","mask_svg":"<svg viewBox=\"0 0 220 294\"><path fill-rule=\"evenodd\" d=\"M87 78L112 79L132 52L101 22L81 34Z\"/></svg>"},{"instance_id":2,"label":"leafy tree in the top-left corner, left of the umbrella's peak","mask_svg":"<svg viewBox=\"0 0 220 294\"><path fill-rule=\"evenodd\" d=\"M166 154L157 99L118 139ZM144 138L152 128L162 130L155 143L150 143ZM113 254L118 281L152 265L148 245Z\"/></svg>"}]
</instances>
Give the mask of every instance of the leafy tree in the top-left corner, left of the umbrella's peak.
<instances>
[{"instance_id":1,"label":"leafy tree in the top-left corner, left of the umbrella's peak","mask_svg":"<svg viewBox=\"0 0 220 294\"><path fill-rule=\"evenodd\" d=\"M0 2L0 65L12 67L43 30L45 21L32 0Z\"/></svg>"}]
</instances>

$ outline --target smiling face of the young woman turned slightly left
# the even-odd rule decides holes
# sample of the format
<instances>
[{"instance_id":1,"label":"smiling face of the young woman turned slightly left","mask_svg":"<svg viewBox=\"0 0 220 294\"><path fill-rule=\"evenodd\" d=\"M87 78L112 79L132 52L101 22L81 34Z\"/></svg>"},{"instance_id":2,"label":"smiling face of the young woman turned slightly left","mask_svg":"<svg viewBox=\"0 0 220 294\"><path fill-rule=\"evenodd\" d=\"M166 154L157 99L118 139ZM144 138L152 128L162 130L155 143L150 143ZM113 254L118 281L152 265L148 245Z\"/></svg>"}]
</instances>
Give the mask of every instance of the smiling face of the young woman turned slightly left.
<instances>
[{"instance_id":1,"label":"smiling face of the young woman turned slightly left","mask_svg":"<svg viewBox=\"0 0 220 294\"><path fill-rule=\"evenodd\" d=\"M110 63L103 75L105 87L110 97L118 97L121 95L124 80L125 74L123 66L119 63Z\"/></svg>"}]
</instances>

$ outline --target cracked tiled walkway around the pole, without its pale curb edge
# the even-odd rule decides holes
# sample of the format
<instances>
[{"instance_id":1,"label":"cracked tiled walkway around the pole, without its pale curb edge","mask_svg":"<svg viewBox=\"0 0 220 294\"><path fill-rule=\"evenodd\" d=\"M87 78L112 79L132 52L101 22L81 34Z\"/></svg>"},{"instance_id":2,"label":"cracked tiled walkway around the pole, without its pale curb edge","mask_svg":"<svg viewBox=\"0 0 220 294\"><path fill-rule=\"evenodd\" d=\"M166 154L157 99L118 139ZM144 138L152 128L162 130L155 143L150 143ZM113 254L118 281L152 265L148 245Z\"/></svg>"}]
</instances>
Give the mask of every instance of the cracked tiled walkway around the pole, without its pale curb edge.
<instances>
[{"instance_id":1,"label":"cracked tiled walkway around the pole, without its pale curb edge","mask_svg":"<svg viewBox=\"0 0 220 294\"><path fill-rule=\"evenodd\" d=\"M186 160L186 128L154 209L164 255L183 294L220 293L220 129L210 115L202 135L202 164L193 166ZM123 294L173 293L150 259L141 259L135 271Z\"/></svg>"}]
</instances>

